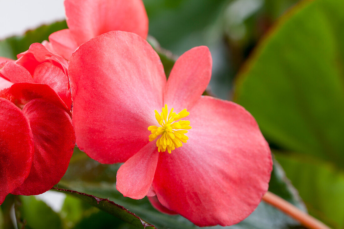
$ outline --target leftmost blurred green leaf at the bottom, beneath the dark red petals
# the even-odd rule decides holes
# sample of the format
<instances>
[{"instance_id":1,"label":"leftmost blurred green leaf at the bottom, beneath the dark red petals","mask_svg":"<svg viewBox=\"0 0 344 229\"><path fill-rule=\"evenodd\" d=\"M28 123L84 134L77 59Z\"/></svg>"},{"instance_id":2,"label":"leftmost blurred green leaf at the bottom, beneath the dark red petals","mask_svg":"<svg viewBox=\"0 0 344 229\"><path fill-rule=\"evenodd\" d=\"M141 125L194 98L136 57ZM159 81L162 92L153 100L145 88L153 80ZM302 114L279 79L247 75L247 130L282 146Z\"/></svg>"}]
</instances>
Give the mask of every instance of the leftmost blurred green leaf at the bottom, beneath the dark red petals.
<instances>
[{"instance_id":1,"label":"leftmost blurred green leaf at the bottom, beneath the dark red petals","mask_svg":"<svg viewBox=\"0 0 344 229\"><path fill-rule=\"evenodd\" d=\"M34 196L15 196L15 208L18 228L62 229L60 216Z\"/></svg>"}]
</instances>

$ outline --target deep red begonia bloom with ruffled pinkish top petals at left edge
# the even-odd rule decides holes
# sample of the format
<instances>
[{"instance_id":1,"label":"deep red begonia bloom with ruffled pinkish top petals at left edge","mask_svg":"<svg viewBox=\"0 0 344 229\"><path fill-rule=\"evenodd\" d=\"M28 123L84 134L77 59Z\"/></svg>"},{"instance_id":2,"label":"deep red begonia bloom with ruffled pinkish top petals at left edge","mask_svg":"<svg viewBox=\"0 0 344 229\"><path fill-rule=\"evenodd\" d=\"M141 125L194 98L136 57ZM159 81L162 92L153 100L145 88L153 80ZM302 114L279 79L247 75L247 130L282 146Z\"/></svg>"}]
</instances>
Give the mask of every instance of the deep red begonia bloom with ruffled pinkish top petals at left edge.
<instances>
[{"instance_id":1,"label":"deep red begonia bloom with ruffled pinkish top petals at left edge","mask_svg":"<svg viewBox=\"0 0 344 229\"><path fill-rule=\"evenodd\" d=\"M9 194L38 195L57 184L75 132L67 62L39 43L0 63L0 204Z\"/></svg>"}]
</instances>

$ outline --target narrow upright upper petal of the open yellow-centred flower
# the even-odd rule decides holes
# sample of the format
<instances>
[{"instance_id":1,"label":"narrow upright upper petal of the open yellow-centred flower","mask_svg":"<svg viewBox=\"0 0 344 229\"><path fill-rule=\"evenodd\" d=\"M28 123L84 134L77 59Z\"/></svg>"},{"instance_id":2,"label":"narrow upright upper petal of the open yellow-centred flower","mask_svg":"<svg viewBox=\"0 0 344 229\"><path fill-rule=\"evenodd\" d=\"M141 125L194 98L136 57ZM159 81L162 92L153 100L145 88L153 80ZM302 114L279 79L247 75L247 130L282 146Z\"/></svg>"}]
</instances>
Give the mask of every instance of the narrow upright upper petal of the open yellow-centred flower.
<instances>
[{"instance_id":1,"label":"narrow upright upper petal of the open yellow-centred flower","mask_svg":"<svg viewBox=\"0 0 344 229\"><path fill-rule=\"evenodd\" d=\"M164 103L175 111L189 109L203 94L212 73L207 46L194 47L175 62L166 83Z\"/></svg>"}]
</instances>

